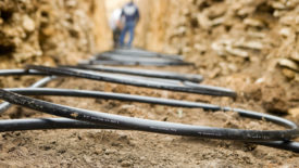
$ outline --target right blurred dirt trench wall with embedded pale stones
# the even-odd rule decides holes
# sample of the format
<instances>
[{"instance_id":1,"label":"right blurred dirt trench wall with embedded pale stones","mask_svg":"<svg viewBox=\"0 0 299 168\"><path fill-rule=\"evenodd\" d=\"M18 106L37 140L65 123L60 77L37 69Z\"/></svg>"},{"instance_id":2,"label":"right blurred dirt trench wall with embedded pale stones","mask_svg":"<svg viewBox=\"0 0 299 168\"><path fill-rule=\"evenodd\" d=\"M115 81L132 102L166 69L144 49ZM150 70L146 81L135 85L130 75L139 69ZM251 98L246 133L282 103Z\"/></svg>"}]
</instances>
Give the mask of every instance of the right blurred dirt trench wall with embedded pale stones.
<instances>
[{"instance_id":1,"label":"right blurred dirt trench wall with embedded pale stones","mask_svg":"<svg viewBox=\"0 0 299 168\"><path fill-rule=\"evenodd\" d=\"M209 75L212 78L259 68L256 76L277 72L298 82L298 3L140 0L144 20L138 25L136 44L187 55L197 67L213 70Z\"/></svg>"}]
</instances>

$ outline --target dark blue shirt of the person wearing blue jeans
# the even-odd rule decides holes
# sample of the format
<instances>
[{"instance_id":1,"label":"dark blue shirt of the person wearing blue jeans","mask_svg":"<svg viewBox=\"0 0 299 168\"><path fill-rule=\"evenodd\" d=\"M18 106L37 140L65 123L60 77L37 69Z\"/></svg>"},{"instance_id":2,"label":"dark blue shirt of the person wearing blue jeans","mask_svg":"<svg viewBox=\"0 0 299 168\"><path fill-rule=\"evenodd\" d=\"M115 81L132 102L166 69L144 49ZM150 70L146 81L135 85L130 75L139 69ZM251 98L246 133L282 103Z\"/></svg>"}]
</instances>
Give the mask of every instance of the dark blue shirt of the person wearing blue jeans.
<instances>
[{"instance_id":1,"label":"dark blue shirt of the person wearing blue jeans","mask_svg":"<svg viewBox=\"0 0 299 168\"><path fill-rule=\"evenodd\" d=\"M133 2L125 4L122 11L122 16L125 17L126 23L137 22L139 20L139 10L137 5Z\"/></svg>"}]
</instances>

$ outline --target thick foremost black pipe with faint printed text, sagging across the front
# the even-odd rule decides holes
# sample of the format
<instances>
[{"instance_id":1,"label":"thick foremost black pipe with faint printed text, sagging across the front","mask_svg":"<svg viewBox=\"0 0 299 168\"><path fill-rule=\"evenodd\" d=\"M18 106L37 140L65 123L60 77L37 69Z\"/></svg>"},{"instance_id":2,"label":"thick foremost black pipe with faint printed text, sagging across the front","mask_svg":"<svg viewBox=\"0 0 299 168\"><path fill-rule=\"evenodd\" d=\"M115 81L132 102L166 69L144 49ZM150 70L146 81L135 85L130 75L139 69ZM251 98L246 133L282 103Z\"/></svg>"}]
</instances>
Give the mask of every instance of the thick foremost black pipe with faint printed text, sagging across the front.
<instances>
[{"instance_id":1,"label":"thick foremost black pipe with faint printed text, sagging across the front","mask_svg":"<svg viewBox=\"0 0 299 168\"><path fill-rule=\"evenodd\" d=\"M299 135L298 128L294 124L287 130L241 130L227 128L212 128L202 126L190 126L173 124L166 121L155 121L149 119L133 118L113 114L74 108L58 105L33 98L27 98L5 90L0 90L0 98L21 106L40 111L47 114L66 117L71 119L89 121L92 124L104 125L122 129L133 129L157 133L167 133L177 135L190 135L210 139L241 140L241 141L282 141L290 140ZM257 113L254 114L257 115ZM282 118L283 119L283 118ZM291 124L288 121L288 124Z\"/></svg>"}]
</instances>

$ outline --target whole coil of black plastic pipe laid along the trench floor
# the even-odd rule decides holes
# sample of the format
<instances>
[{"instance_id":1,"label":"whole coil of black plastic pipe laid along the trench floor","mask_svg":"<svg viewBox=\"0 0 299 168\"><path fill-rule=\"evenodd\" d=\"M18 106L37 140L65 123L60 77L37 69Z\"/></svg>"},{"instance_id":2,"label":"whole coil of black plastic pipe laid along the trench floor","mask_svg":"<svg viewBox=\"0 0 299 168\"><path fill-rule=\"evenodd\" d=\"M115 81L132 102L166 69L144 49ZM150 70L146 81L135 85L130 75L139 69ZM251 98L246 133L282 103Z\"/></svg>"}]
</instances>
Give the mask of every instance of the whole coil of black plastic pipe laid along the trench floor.
<instances>
[{"instance_id":1,"label":"whole coil of black plastic pipe laid along the trench floor","mask_svg":"<svg viewBox=\"0 0 299 168\"><path fill-rule=\"evenodd\" d=\"M114 52L114 54L120 54L121 52L126 52L127 55L132 54L135 56L136 53L144 51L119 50ZM144 52L142 56L159 57L159 54ZM164 59L164 56L166 55L160 55L161 59ZM170 60L179 61L179 57L175 55ZM11 75L38 75L47 77L37 81L29 88L0 89L0 99L5 101L4 103L0 104L0 113L4 113L9 109L11 104L15 104L62 118L4 119L0 120L0 132L39 129L136 130L173 135L244 141L299 153L299 143L291 141L292 139L299 137L298 126L295 122L284 119L282 117L241 108L232 108L227 106L219 106L199 102L188 102L172 99L161 99L113 92L100 92L91 90L39 88L54 80L55 78L76 77L177 92L232 98L236 96L236 93L229 89L199 85L198 82L202 80L202 77L199 75L174 74L169 72L154 72L141 69L138 70L119 67L114 68L99 65L78 65L60 67L29 65L26 66L26 69L0 70L0 76ZM271 121L285 127L285 129L246 130L158 121L75 108L66 105L54 104L51 102L29 98L27 95L76 96L89 99L117 100L125 102L139 102L186 108L201 108L211 112L235 112L241 117Z\"/></svg>"}]
</instances>

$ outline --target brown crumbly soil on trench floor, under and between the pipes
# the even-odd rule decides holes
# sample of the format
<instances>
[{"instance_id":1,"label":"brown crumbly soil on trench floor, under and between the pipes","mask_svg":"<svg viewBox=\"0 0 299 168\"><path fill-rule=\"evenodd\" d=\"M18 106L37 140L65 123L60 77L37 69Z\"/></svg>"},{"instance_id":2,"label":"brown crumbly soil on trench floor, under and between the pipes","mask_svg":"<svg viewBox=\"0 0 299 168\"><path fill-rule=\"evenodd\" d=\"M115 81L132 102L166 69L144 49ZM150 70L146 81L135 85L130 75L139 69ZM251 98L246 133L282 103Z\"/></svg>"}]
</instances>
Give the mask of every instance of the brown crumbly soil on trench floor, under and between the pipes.
<instances>
[{"instance_id":1,"label":"brown crumbly soil on trench floor, under and between the pipes","mask_svg":"<svg viewBox=\"0 0 299 168\"><path fill-rule=\"evenodd\" d=\"M192 67L169 67L182 73ZM196 102L208 102L264 112L263 103L273 98L270 86L259 87L240 74L226 79L205 80L204 83L242 90L236 100L145 89L77 78L60 78L47 87L112 91ZM22 86L34 80L23 79ZM15 81L11 87L21 86ZM20 81L20 82L16 82ZM281 86L271 88L279 91ZM54 103L119 115L167 120L191 125L245 129L281 129L264 121L240 118L236 114L203 112L149 105L144 103L38 96ZM267 98L267 99L266 99ZM276 98L277 99L277 98ZM287 101L281 99L282 101ZM13 107L1 118L50 117L23 107ZM286 116L296 120L291 116ZM297 118L297 122L299 122ZM1 167L296 167L299 155L292 152L252 145L242 142L207 140L120 130L38 130L1 133Z\"/></svg>"}]
</instances>

